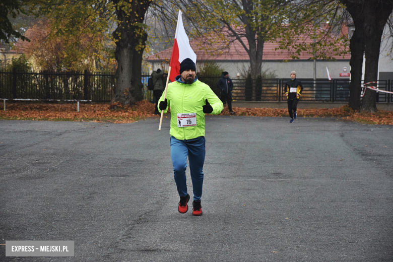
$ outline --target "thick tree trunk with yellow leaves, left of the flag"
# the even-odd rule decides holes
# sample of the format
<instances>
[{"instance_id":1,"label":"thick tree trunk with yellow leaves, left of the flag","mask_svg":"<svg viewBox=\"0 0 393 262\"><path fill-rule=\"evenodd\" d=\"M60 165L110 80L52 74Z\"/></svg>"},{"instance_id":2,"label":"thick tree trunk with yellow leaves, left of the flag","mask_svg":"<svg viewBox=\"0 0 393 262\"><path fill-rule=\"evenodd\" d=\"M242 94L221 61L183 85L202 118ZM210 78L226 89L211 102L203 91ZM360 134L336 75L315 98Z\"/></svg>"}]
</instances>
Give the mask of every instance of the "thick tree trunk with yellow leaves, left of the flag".
<instances>
[{"instance_id":1,"label":"thick tree trunk with yellow leaves, left of the flag","mask_svg":"<svg viewBox=\"0 0 393 262\"><path fill-rule=\"evenodd\" d=\"M130 3L112 0L112 2L119 21L113 33L116 40L117 69L112 104L119 102L122 105L133 105L143 99L142 55L147 39L143 21L151 0L130 1Z\"/></svg>"}]
</instances>

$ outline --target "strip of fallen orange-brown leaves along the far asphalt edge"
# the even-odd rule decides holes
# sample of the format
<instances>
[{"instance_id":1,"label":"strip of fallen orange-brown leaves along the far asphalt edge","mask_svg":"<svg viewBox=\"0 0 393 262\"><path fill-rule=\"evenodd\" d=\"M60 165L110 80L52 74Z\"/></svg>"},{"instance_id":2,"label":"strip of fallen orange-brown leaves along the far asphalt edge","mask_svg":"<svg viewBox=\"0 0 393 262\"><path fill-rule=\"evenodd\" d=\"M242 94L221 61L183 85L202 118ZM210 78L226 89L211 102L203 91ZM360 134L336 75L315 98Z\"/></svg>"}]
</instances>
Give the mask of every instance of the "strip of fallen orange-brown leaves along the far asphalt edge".
<instances>
[{"instance_id":1,"label":"strip of fallen orange-brown leaves along the far asphalt edge","mask_svg":"<svg viewBox=\"0 0 393 262\"><path fill-rule=\"evenodd\" d=\"M0 102L0 108L4 104ZM77 112L76 103L6 103L7 110L0 111L0 119L6 120L50 120L50 121L94 121L130 123L153 117L154 104L143 100L133 107L117 107L110 109L108 103L94 103L79 105ZM112 105L113 107L113 105ZM235 115L260 116L260 117L289 117L288 110L283 108L241 108L234 107ZM359 113L353 111L348 105L338 108L307 109L299 108L298 117L339 117L346 120L354 120L366 124L393 124L393 112L379 110L376 113ZM225 107L220 115L231 115L228 107Z\"/></svg>"}]
</instances>

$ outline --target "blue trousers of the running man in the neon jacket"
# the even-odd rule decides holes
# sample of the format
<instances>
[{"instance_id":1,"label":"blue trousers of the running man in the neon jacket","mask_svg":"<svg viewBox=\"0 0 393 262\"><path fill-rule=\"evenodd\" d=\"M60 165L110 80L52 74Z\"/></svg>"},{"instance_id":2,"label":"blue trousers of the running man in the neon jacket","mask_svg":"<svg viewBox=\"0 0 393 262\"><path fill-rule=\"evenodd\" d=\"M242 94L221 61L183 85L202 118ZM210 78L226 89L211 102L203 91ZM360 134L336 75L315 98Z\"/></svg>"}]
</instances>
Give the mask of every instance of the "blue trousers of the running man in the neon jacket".
<instances>
[{"instance_id":1,"label":"blue trousers of the running man in the neon jacket","mask_svg":"<svg viewBox=\"0 0 393 262\"><path fill-rule=\"evenodd\" d=\"M185 169L187 168L188 156L194 201L201 201L204 182L205 141L205 137L189 140L178 140L171 137L173 173L180 197L187 195Z\"/></svg>"}]
</instances>

